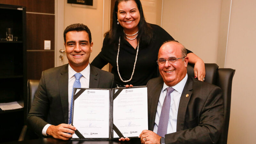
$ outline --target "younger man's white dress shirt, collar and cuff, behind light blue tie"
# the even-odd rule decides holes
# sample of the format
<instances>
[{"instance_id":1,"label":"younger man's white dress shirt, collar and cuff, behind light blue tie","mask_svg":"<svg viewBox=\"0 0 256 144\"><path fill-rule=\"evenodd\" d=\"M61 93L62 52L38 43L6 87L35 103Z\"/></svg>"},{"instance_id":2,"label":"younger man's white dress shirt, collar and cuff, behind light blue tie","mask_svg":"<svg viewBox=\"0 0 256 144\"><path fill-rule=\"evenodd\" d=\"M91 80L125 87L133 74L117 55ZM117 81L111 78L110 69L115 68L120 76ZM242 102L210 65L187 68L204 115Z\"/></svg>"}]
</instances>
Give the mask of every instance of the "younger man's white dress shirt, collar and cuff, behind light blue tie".
<instances>
[{"instance_id":1,"label":"younger man's white dress shirt, collar and cuff, behind light blue tie","mask_svg":"<svg viewBox=\"0 0 256 144\"><path fill-rule=\"evenodd\" d=\"M70 104L72 97L73 84L76 80L75 74L77 72L68 65L68 122L70 117ZM90 81L90 65L80 72L83 76L80 78L81 88L89 88ZM42 134L47 136L46 131L51 124L46 124L43 128Z\"/></svg>"}]
</instances>

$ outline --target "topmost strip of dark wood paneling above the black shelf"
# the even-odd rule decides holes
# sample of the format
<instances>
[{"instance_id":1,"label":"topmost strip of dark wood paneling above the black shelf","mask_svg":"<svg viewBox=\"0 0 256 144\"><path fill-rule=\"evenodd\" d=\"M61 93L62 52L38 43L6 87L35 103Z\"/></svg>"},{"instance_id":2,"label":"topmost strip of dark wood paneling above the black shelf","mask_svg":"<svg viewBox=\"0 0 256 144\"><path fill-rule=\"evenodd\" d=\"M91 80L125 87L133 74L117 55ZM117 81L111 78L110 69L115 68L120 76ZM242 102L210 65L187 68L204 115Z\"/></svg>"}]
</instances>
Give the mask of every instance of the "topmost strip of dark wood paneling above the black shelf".
<instances>
[{"instance_id":1,"label":"topmost strip of dark wood paneling above the black shelf","mask_svg":"<svg viewBox=\"0 0 256 144\"><path fill-rule=\"evenodd\" d=\"M27 7L27 12L54 14L54 0L0 0L0 4L25 6Z\"/></svg>"}]
</instances>

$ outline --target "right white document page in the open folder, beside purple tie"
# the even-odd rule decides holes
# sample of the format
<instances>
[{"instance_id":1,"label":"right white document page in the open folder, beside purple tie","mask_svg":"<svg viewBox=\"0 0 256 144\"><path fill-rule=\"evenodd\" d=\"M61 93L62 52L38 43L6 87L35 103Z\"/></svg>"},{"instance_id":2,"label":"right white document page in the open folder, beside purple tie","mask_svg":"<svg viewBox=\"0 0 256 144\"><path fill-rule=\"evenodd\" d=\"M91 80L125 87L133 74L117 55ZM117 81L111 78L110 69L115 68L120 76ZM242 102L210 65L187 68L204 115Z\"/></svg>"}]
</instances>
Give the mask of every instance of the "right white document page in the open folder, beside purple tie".
<instances>
[{"instance_id":1,"label":"right white document page in the open folder, beside purple tie","mask_svg":"<svg viewBox=\"0 0 256 144\"><path fill-rule=\"evenodd\" d=\"M147 88L123 89L113 103L113 124L124 137L138 137L148 129ZM114 131L114 138L119 136Z\"/></svg>"}]
</instances>

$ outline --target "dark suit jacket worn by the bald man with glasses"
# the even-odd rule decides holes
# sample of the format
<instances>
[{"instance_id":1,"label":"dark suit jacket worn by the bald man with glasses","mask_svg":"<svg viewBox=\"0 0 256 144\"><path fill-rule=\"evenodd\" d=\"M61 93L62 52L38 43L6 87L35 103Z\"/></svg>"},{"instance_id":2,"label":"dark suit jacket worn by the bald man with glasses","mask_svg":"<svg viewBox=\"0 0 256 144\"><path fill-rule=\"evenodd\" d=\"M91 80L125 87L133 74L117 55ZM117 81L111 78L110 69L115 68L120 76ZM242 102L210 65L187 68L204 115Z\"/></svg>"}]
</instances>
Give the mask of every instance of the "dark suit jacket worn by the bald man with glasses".
<instances>
[{"instance_id":1,"label":"dark suit jacket worn by the bald man with glasses","mask_svg":"<svg viewBox=\"0 0 256 144\"><path fill-rule=\"evenodd\" d=\"M164 81L157 77L148 81L148 128L153 131L156 108ZM188 94L188 97L186 95ZM210 144L219 139L223 122L221 89L188 77L180 97L177 132L166 134L166 144Z\"/></svg>"}]
</instances>

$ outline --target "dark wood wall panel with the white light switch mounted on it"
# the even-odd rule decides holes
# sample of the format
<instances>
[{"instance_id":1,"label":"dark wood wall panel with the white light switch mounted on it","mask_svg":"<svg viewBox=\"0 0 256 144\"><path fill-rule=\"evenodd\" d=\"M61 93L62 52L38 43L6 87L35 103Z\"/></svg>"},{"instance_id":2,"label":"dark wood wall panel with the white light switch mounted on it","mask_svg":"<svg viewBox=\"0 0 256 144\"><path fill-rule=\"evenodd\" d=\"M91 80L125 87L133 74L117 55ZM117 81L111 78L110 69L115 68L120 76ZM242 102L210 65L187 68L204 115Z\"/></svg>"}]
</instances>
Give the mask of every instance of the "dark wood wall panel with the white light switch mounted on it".
<instances>
[{"instance_id":1,"label":"dark wood wall panel with the white light switch mounted on it","mask_svg":"<svg viewBox=\"0 0 256 144\"><path fill-rule=\"evenodd\" d=\"M54 15L27 13L27 50L44 50L44 40L54 50L54 32Z\"/></svg>"}]
</instances>

